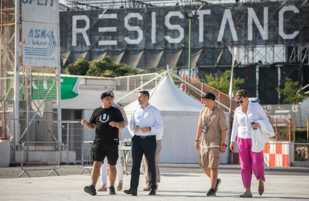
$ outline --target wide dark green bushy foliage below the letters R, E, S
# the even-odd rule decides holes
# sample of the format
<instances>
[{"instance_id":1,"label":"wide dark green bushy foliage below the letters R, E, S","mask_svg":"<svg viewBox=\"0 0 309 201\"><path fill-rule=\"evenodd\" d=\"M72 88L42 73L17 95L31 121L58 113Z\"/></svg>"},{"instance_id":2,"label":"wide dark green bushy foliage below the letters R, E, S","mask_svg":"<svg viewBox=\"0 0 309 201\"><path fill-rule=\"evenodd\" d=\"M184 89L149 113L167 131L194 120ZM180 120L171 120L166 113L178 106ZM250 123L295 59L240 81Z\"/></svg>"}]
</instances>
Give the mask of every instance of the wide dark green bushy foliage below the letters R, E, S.
<instances>
[{"instance_id":1,"label":"wide dark green bushy foliage below the letters R, E, S","mask_svg":"<svg viewBox=\"0 0 309 201\"><path fill-rule=\"evenodd\" d=\"M79 58L74 63L68 65L66 73L71 75L118 77L143 74L144 72L132 69L125 63L116 64L109 56L105 56L102 59L92 61Z\"/></svg>"}]
</instances>

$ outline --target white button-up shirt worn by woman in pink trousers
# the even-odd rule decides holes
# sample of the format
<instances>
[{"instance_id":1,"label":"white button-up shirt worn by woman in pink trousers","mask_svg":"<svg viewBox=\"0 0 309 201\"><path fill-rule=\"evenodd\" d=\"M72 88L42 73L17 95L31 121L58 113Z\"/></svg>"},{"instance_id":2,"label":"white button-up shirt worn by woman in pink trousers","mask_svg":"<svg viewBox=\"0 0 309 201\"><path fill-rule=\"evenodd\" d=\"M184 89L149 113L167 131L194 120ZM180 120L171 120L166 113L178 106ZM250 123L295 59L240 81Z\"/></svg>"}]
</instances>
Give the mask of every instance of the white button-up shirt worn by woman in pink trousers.
<instances>
[{"instance_id":1,"label":"white button-up shirt worn by woman in pink trousers","mask_svg":"<svg viewBox=\"0 0 309 201\"><path fill-rule=\"evenodd\" d=\"M263 107L258 103L252 103L250 101L247 114L242 111L240 106L235 109L231 142L235 142L236 136L245 139L251 138L252 118L254 121L268 120Z\"/></svg>"}]
</instances>

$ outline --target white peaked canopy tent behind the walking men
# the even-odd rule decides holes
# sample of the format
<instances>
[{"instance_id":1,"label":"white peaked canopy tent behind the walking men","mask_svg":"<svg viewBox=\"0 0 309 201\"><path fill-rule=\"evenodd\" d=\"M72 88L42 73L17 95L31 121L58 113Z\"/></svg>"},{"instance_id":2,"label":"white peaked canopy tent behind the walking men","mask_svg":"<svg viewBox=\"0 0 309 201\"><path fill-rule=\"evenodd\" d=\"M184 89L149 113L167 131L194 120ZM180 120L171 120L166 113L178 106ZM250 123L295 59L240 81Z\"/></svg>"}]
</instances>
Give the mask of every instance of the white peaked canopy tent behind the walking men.
<instances>
[{"instance_id":1,"label":"white peaked canopy tent behind the walking men","mask_svg":"<svg viewBox=\"0 0 309 201\"><path fill-rule=\"evenodd\" d=\"M164 124L159 162L198 163L200 150L195 148L195 138L204 105L181 91L169 76L164 76L150 91L149 103L160 110ZM124 107L129 121L135 107L139 107L137 100ZM123 138L131 137L129 133L133 136L129 126L122 133Z\"/></svg>"}]
</instances>

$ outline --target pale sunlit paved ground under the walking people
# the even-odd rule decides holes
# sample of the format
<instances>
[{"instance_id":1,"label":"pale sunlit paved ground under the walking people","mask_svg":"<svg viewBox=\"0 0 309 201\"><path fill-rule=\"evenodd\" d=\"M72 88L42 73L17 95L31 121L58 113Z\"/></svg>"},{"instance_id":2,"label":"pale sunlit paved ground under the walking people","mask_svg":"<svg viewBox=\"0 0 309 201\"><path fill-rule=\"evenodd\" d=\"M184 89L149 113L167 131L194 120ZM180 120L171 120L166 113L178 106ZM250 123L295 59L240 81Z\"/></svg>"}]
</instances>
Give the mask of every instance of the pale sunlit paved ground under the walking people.
<instances>
[{"instance_id":1,"label":"pale sunlit paved ground under the walking people","mask_svg":"<svg viewBox=\"0 0 309 201\"><path fill-rule=\"evenodd\" d=\"M257 192L258 182L252 177L253 198L240 198L244 192L239 165L221 165L219 177L222 183L216 197L206 197L210 188L210 179L197 164L161 164L161 183L157 195L149 196L142 191L145 176L141 174L138 196L130 196L123 191L117 195L97 192L91 196L84 192L84 186L90 185L90 174L84 172L81 165L63 165L56 173L29 171L30 178L23 174L20 167L0 168L0 200L309 200L308 170L265 170L265 191L262 196ZM130 175L124 175L124 190L129 189ZM117 181L116 181L117 183ZM97 183L96 189L100 186Z\"/></svg>"}]
</instances>

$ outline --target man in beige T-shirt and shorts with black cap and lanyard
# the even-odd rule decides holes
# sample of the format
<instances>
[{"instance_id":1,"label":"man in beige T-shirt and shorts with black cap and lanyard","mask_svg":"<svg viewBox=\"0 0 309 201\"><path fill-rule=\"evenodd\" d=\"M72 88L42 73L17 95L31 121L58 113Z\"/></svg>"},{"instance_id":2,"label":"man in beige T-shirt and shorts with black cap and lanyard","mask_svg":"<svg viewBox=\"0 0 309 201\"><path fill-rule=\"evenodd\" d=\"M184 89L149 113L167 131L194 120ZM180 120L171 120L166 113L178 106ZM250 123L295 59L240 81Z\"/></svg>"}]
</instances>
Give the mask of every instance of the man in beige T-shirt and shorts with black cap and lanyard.
<instances>
[{"instance_id":1,"label":"man in beige T-shirt and shorts with black cap and lanyard","mask_svg":"<svg viewBox=\"0 0 309 201\"><path fill-rule=\"evenodd\" d=\"M204 98L205 108L200 112L195 147L199 150L199 142L201 142L201 155L198 164L210 178L211 188L207 192L207 196L216 196L221 183L221 179L218 178L220 152L224 153L226 150L225 137L228 126L224 112L214 105L216 96L206 92L201 98ZM201 136L202 140L199 141Z\"/></svg>"}]
</instances>

